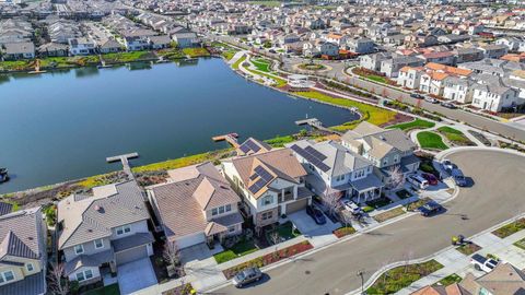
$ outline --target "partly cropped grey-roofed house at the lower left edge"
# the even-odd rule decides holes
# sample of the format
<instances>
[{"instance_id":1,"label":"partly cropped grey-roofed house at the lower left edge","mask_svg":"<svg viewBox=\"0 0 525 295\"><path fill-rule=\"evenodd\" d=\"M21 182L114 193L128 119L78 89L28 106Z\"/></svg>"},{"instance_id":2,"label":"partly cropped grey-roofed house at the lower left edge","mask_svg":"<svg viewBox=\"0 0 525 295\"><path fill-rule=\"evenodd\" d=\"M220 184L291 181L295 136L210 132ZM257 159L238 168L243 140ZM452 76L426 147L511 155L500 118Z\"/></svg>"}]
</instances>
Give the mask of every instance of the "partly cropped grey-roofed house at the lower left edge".
<instances>
[{"instance_id":1,"label":"partly cropped grey-roofed house at the lower left edge","mask_svg":"<svg viewBox=\"0 0 525 295\"><path fill-rule=\"evenodd\" d=\"M47 293L46 245L40 208L0 216L0 294Z\"/></svg>"}]
</instances>

